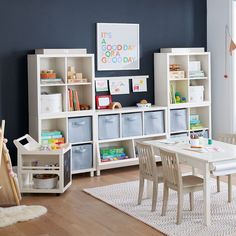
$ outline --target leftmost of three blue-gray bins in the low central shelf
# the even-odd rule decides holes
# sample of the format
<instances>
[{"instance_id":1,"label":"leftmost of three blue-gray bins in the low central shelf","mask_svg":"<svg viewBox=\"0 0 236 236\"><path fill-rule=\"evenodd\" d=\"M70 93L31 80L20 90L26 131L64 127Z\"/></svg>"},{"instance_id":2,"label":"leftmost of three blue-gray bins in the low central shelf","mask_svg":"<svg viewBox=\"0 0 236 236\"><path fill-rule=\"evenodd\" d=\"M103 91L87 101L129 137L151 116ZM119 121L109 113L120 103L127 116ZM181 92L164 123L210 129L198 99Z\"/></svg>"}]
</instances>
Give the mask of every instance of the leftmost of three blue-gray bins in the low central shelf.
<instances>
[{"instance_id":1,"label":"leftmost of three blue-gray bins in the low central shelf","mask_svg":"<svg viewBox=\"0 0 236 236\"><path fill-rule=\"evenodd\" d=\"M120 137L119 115L98 117L98 139L115 139Z\"/></svg>"}]
</instances>

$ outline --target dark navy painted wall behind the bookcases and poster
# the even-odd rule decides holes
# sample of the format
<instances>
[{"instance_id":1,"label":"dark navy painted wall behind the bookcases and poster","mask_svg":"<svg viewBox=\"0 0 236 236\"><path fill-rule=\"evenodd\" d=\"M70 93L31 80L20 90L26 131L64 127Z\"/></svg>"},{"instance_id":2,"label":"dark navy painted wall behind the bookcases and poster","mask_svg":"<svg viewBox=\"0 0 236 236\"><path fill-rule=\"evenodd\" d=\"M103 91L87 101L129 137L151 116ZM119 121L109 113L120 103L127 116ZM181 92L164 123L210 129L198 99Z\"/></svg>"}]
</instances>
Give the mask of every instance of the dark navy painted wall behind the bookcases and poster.
<instances>
[{"instance_id":1,"label":"dark navy painted wall behind the bookcases and poster","mask_svg":"<svg viewBox=\"0 0 236 236\"><path fill-rule=\"evenodd\" d=\"M153 52L161 47L206 46L206 0L0 0L0 118L15 162L12 140L28 132L27 54L35 48L96 49L96 22L139 23L139 71L96 76L148 74L148 93L116 96L123 105L153 102Z\"/></svg>"}]
</instances>

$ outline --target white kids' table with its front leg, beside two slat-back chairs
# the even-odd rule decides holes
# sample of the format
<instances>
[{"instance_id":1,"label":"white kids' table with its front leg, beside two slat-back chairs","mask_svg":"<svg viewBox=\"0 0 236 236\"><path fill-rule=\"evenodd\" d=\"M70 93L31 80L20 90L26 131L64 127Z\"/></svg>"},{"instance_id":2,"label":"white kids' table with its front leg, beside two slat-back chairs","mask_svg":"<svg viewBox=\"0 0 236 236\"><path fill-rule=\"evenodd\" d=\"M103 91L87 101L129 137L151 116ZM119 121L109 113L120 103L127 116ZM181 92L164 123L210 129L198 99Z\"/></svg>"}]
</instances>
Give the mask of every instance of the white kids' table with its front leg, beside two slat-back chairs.
<instances>
[{"instance_id":1,"label":"white kids' table with its front leg, beside two slat-back chairs","mask_svg":"<svg viewBox=\"0 0 236 236\"><path fill-rule=\"evenodd\" d=\"M200 152L200 150L198 151L197 149L189 150L190 145L186 143L168 144L168 142L165 142L164 140L145 141L145 143L150 144L155 148L163 148L167 151L175 152L178 154L181 163L190 165L200 171L200 174L202 174L204 178L204 223L210 225L210 174L211 171L214 170L214 164L225 163L229 160L235 164L236 145L213 140L211 147L216 147L218 150L214 151L208 149L207 152ZM150 183L148 186L150 186ZM150 187L148 187L147 191L150 191ZM150 196L150 193L148 193L148 195Z\"/></svg>"}]
</instances>

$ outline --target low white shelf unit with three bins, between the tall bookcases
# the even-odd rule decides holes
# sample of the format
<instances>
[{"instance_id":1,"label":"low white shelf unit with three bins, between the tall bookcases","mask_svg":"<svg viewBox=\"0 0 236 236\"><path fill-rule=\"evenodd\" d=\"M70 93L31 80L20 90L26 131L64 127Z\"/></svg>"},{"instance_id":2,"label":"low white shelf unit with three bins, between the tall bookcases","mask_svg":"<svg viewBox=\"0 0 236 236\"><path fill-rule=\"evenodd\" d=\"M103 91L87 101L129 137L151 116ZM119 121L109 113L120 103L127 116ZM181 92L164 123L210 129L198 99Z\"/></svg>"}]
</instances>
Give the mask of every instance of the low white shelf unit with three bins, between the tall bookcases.
<instances>
[{"instance_id":1,"label":"low white shelf unit with three bins, between the tall bookcases","mask_svg":"<svg viewBox=\"0 0 236 236\"><path fill-rule=\"evenodd\" d=\"M122 127L124 125L125 122L124 119L126 117L128 119L129 118L134 119L132 122L134 122L135 124L135 129L140 130L140 133L137 132L138 133L137 135L132 135L132 124L129 124L129 128L127 128L126 131L128 130L129 132L131 132L131 135L128 135L126 132L125 135L127 135L127 137L124 137L124 130L122 129ZM151 124L151 121L149 121L146 122L145 124L146 119L150 118L153 118L153 121L155 122ZM98 125L98 127L96 128L98 175L100 174L100 170L137 165L138 158L135 153L135 140L165 138L167 135L166 131L167 114L165 107L158 107L158 106L152 106L151 108L125 107L122 109L115 109L115 110L107 110L107 109L97 110L96 119L97 119L96 124ZM157 132L145 134L145 131L147 131L147 128L149 128L150 125L155 130L155 126L157 124L160 125L161 132L158 132L159 127L156 127ZM112 135L115 135L115 137L110 136L111 131L113 132ZM150 129L149 132L151 132ZM103 147L114 147L114 146L124 147L129 158L102 162L100 149Z\"/></svg>"}]
</instances>

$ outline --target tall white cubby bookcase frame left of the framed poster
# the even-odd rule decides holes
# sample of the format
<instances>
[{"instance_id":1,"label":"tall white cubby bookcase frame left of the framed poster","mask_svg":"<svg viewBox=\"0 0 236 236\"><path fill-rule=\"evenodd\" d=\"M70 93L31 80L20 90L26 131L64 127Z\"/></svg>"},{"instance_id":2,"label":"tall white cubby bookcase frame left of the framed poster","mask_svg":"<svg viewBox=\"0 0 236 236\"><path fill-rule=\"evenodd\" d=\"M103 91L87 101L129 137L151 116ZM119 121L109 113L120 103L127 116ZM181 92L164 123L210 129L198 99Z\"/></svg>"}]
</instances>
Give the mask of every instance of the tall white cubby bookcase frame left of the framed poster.
<instances>
[{"instance_id":1,"label":"tall white cubby bookcase frame left of the framed poster","mask_svg":"<svg viewBox=\"0 0 236 236\"><path fill-rule=\"evenodd\" d=\"M86 83L68 83L67 68L75 66L75 71L83 73L88 79ZM81 71L82 68L82 71ZM28 55L28 93L29 93L29 133L37 141L41 139L44 128L63 131L65 141L68 142L68 119L72 117L92 117L94 123L95 90L94 90L94 55L93 54L36 54ZM53 69L63 83L41 84L41 70ZM89 104L90 110L69 111L68 88L73 87L79 91L80 104ZM63 97L63 111L58 113L41 113L40 95L42 91L59 92ZM82 96L80 97L80 95ZM93 133L93 131L92 131ZM93 166L89 169L74 170L75 173L90 172L94 175L96 170L95 143L92 138L88 142L76 142L72 145L84 143L93 144ZM73 159L73 156L72 156Z\"/></svg>"}]
</instances>

